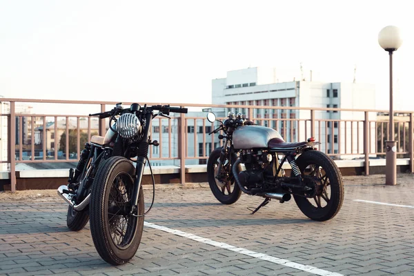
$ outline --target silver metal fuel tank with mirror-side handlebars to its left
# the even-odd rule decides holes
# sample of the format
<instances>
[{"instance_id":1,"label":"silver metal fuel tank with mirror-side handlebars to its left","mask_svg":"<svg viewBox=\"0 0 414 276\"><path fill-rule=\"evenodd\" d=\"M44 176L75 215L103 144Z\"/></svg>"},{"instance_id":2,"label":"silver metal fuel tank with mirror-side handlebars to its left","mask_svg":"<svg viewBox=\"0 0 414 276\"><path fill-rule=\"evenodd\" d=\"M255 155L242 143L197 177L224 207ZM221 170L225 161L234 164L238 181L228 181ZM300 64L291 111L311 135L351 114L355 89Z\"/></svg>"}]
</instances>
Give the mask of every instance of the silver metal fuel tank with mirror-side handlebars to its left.
<instances>
[{"instance_id":1,"label":"silver metal fuel tank with mirror-side handlebars to its left","mask_svg":"<svg viewBox=\"0 0 414 276\"><path fill-rule=\"evenodd\" d=\"M266 126L240 126L233 132L233 146L236 150L248 148L267 148L268 141L282 136L273 128Z\"/></svg>"}]
</instances>

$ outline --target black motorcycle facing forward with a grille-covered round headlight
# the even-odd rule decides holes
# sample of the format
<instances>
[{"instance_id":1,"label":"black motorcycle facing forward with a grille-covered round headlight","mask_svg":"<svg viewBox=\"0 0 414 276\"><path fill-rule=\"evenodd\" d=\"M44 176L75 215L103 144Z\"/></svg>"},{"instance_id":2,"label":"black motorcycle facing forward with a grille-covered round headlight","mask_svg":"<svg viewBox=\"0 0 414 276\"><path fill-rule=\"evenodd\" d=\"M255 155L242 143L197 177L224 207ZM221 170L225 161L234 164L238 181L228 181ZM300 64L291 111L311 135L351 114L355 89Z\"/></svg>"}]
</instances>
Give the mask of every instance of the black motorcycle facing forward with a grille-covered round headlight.
<instances>
[{"instance_id":1,"label":"black motorcycle facing forward with a grille-covered round headlight","mask_svg":"<svg viewBox=\"0 0 414 276\"><path fill-rule=\"evenodd\" d=\"M159 146L150 140L150 121L157 116L169 118L170 112L187 113L187 108L138 103L122 108L117 103L110 111L90 114L110 117L109 129L105 137L95 135L86 143L77 168L70 169L68 185L57 189L69 204L68 228L81 230L90 220L95 248L110 264L128 262L141 242L144 215L152 207L144 213L141 181L149 145ZM133 157L137 158L132 162ZM152 175L151 166L150 171Z\"/></svg>"}]
</instances>

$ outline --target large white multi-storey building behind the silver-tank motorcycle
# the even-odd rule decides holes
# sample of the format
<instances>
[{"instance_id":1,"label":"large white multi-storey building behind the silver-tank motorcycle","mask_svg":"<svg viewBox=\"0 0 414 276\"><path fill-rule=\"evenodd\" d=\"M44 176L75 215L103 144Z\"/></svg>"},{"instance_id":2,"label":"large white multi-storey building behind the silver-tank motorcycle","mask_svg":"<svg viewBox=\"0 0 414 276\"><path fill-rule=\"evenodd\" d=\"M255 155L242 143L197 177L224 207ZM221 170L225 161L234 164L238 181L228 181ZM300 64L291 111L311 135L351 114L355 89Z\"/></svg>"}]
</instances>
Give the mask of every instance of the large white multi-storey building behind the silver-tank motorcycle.
<instances>
[{"instance_id":1,"label":"large white multi-storey building behind the silver-tank motorcycle","mask_svg":"<svg viewBox=\"0 0 414 276\"><path fill-rule=\"evenodd\" d=\"M315 81L276 83L274 72L272 69L247 68L229 71L227 77L223 79L213 79L213 104L375 109L375 86L371 84L322 83ZM247 115L247 110L231 109ZM375 117L375 114L371 114L369 119L375 120ZM308 110L255 109L253 118L262 119L259 123L263 121L264 126L270 126L278 130L285 141L305 141L310 137L310 124L307 123L308 137L305 137L305 123L304 121L297 121L310 119L311 116ZM317 139L322 138L320 147L322 151L327 149L327 153L356 154L360 147L359 153L361 152L364 145L362 137L364 124L361 122L364 120L364 112L317 110L315 111L315 119L317 123L315 124L314 136ZM345 123L345 121L348 122ZM351 126L351 121L355 121L352 123L353 126ZM360 122L357 123L356 121ZM375 133L375 126L370 126L370 128ZM357 136L358 132L359 136ZM351 140L351 133L353 140ZM328 140L327 144L326 139ZM375 139L375 135L371 135L372 152L375 152ZM340 151L338 151L338 141L341 141ZM358 155L342 156L341 158L354 157L358 157Z\"/></svg>"}]
</instances>

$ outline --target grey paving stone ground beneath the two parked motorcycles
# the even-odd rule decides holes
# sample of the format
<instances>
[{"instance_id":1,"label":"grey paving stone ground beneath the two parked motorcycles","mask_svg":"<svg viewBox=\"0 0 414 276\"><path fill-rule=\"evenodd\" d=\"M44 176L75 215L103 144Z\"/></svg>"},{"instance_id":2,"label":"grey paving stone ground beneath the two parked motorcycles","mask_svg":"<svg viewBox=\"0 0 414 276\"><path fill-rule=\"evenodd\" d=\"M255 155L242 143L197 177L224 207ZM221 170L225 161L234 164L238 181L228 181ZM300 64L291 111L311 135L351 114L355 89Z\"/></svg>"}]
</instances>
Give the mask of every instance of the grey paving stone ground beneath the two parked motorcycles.
<instances>
[{"instance_id":1,"label":"grey paving stone ground beneath the two parked motorcycles","mask_svg":"<svg viewBox=\"0 0 414 276\"><path fill-rule=\"evenodd\" d=\"M242 195L226 206L208 188L157 190L146 222L313 266L324 275L414 275L413 198L414 182L349 180L339 214L318 222L294 200L273 200L250 215L247 207L261 198ZM95 250L89 224L79 232L66 228L66 211L57 197L0 201L0 275L315 275L150 227L135 258L110 266Z\"/></svg>"}]
</instances>

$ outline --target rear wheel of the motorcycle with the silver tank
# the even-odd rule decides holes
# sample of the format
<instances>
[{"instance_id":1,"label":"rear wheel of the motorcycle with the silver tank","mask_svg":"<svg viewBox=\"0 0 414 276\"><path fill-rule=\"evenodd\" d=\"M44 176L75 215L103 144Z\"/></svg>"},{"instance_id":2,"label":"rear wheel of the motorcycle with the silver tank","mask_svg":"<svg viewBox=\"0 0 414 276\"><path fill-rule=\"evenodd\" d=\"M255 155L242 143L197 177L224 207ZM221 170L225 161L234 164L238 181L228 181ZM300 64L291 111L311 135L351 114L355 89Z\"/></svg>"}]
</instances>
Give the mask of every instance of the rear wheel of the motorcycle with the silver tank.
<instances>
[{"instance_id":1,"label":"rear wheel of the motorcycle with the silver tank","mask_svg":"<svg viewBox=\"0 0 414 276\"><path fill-rule=\"evenodd\" d=\"M335 217L344 201L342 175L335 162L323 152L308 150L297 157L296 164L306 185L315 189L310 198L293 195L299 209L316 221Z\"/></svg>"}]
</instances>

